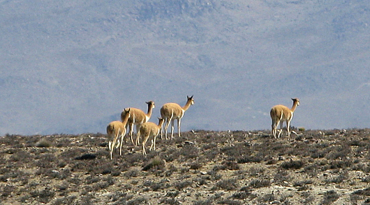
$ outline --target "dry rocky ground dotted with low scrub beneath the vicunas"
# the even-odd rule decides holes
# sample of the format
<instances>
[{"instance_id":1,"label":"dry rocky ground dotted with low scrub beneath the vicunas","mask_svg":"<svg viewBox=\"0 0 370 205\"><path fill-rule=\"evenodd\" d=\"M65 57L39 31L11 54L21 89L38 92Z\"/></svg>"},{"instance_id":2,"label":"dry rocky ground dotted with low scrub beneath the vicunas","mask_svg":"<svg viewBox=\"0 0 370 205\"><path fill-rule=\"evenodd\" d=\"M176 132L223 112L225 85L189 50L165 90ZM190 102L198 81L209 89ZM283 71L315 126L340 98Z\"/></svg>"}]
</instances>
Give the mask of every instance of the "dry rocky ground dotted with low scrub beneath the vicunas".
<instances>
[{"instance_id":1,"label":"dry rocky ground dotted with low scrub beneath the vicunas","mask_svg":"<svg viewBox=\"0 0 370 205\"><path fill-rule=\"evenodd\" d=\"M0 137L0 204L370 204L370 129Z\"/></svg>"}]
</instances>

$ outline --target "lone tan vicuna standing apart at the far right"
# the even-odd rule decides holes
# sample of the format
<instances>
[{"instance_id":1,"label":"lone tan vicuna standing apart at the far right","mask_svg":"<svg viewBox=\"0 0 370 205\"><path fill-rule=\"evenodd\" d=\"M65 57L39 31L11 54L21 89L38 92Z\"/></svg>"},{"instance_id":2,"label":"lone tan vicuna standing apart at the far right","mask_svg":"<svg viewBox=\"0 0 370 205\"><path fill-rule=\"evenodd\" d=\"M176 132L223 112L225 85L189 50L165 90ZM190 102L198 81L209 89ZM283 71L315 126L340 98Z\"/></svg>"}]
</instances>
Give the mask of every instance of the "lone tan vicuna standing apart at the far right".
<instances>
[{"instance_id":1,"label":"lone tan vicuna standing apart at the far right","mask_svg":"<svg viewBox=\"0 0 370 205\"><path fill-rule=\"evenodd\" d=\"M293 107L291 109L288 109L288 107L284 105L275 105L271 108L270 116L272 120L271 124L271 130L273 133L273 137L276 138L276 128L279 126L280 121L282 121L282 124L280 124L280 131L277 137L280 137L280 133L282 133L283 123L286 122L286 131L288 131L288 137L291 136L291 132L289 131L289 127L291 126L291 120L293 119L293 113L297 106L299 105L299 99L298 98L292 98L293 100Z\"/></svg>"}]
</instances>

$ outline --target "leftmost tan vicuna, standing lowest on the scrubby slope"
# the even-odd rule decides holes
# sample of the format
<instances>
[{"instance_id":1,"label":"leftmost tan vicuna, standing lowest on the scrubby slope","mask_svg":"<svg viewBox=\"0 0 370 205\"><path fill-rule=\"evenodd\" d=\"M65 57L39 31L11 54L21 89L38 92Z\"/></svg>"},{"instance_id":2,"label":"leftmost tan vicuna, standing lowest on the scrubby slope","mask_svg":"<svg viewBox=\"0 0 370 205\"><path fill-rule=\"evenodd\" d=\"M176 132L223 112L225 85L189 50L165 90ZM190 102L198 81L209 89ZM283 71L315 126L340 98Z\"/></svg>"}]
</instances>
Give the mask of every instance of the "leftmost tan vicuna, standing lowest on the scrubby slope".
<instances>
[{"instance_id":1,"label":"leftmost tan vicuna, standing lowest on the scrubby slope","mask_svg":"<svg viewBox=\"0 0 370 205\"><path fill-rule=\"evenodd\" d=\"M107 134L108 134L108 148L110 152L110 159L112 159L112 154L114 150L114 145L116 144L116 141L118 140L119 136L121 136L121 141L117 143L117 147L120 146L119 149L119 155L122 155L122 143L123 143L123 138L125 137L126 134L126 124L127 120L130 118L131 114L131 109L123 109L122 113L125 113L125 118L122 119L121 121L113 121L110 122L107 126Z\"/></svg>"}]
</instances>

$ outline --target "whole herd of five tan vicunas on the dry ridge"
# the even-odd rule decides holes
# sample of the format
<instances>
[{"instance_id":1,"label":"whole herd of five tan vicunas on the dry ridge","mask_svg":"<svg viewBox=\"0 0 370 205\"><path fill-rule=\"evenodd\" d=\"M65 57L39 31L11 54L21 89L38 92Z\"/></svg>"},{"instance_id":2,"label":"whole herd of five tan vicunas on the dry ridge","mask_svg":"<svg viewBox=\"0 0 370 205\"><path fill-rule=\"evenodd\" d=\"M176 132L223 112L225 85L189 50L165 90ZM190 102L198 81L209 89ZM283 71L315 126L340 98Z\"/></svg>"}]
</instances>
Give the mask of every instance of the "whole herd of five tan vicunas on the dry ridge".
<instances>
[{"instance_id":1,"label":"whole herd of five tan vicunas on the dry ridge","mask_svg":"<svg viewBox=\"0 0 370 205\"><path fill-rule=\"evenodd\" d=\"M180 137L180 124L181 119L184 116L185 111L194 104L193 96L188 97L184 107L181 107L177 103L166 103L160 109L161 118L158 118L158 124L153 122L148 122L151 118L153 108L155 107L153 101L146 102L148 105L147 113L144 113L142 110L130 107L123 109L121 113L121 121L110 122L107 126L108 134L108 148L110 152L110 159L112 159L112 154L115 148L120 148L119 154L122 155L122 144L126 134L126 130L130 133L130 139L134 146L140 144L140 137L142 137L142 152L144 155L147 154L145 150L145 143L148 139L151 139L151 146L149 150L156 150L156 137L160 134L160 137L163 138L163 124L164 124L164 138L167 139L167 129L171 122L171 139L173 139L173 128L175 120L177 120L177 134ZM290 137L289 127L291 125L291 120L293 119L293 113L297 106L299 105L298 98L292 98L293 107L289 109L284 105L275 105L271 108L270 116L272 120L271 131L273 137L280 137L280 134L283 131L283 123L286 122L286 131L288 132L288 137ZM281 123L281 124L280 124ZM277 126L280 124L279 133L277 133ZM136 140L133 139L134 126L136 126ZM121 137L121 140L119 140Z\"/></svg>"}]
</instances>

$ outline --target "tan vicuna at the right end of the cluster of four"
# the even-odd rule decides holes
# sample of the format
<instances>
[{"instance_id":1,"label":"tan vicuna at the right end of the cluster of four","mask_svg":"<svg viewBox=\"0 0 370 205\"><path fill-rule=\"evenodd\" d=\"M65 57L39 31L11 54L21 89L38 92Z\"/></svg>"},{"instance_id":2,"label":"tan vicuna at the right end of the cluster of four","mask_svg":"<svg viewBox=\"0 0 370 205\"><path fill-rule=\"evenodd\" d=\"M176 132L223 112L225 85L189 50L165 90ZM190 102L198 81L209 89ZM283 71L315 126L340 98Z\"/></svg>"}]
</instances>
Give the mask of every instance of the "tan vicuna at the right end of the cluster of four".
<instances>
[{"instance_id":1,"label":"tan vicuna at the right end of the cluster of four","mask_svg":"<svg viewBox=\"0 0 370 205\"><path fill-rule=\"evenodd\" d=\"M184 116L185 111L190 107L190 105L194 104L193 96L188 97L188 101L184 107L180 107L180 105L170 102L166 103L160 109L161 117L166 121L166 125L164 126L164 132L167 139L167 128L169 128L169 123L171 121L171 139L173 139L173 123L177 120L177 132L180 137L180 124L181 118ZM160 132L160 138L163 136L163 131Z\"/></svg>"}]
</instances>

